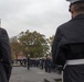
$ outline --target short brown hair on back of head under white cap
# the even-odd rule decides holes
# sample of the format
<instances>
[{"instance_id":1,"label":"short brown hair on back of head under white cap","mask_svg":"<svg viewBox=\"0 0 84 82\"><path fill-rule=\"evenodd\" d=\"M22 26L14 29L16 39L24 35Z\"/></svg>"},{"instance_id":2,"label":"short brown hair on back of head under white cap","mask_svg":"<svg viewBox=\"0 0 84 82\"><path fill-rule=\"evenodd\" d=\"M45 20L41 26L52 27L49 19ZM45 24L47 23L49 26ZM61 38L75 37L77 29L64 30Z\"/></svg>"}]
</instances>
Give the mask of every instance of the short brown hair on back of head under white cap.
<instances>
[{"instance_id":1,"label":"short brown hair on back of head under white cap","mask_svg":"<svg viewBox=\"0 0 84 82\"><path fill-rule=\"evenodd\" d=\"M71 4L71 7L72 5L73 5L74 11L84 12L84 1L83 2L75 2L75 3ZM71 11L71 7L70 7L70 11Z\"/></svg>"}]
</instances>

